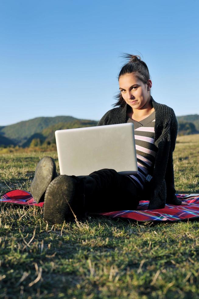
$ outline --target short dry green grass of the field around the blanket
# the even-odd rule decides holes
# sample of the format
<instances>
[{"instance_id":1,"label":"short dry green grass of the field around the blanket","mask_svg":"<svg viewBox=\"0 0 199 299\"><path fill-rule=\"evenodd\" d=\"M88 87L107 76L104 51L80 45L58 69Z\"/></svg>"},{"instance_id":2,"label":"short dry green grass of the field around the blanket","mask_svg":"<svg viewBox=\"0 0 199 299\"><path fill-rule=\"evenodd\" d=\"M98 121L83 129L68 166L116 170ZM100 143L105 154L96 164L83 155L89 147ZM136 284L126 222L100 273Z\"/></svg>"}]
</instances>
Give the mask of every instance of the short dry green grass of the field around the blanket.
<instances>
[{"instance_id":1,"label":"short dry green grass of the field around the blanket","mask_svg":"<svg viewBox=\"0 0 199 299\"><path fill-rule=\"evenodd\" d=\"M178 138L176 189L198 192L199 135ZM1 194L29 190L37 162L1 154ZM49 226L36 207L1 205L0 298L199 298L199 222L92 218Z\"/></svg>"}]
</instances>

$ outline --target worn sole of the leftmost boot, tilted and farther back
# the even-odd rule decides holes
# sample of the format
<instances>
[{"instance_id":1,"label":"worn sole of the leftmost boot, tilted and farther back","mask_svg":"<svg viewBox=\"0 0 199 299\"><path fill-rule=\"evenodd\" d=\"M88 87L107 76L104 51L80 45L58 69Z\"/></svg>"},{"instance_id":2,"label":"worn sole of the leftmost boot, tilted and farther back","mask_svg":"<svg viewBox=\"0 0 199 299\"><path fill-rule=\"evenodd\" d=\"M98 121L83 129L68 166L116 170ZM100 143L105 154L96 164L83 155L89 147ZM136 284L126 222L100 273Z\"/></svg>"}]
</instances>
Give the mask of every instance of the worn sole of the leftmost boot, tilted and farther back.
<instances>
[{"instance_id":1,"label":"worn sole of the leftmost boot, tilted and farther back","mask_svg":"<svg viewBox=\"0 0 199 299\"><path fill-rule=\"evenodd\" d=\"M51 157L42 158L35 169L30 193L38 203L44 201L44 193L50 182L57 176L56 165Z\"/></svg>"}]
</instances>

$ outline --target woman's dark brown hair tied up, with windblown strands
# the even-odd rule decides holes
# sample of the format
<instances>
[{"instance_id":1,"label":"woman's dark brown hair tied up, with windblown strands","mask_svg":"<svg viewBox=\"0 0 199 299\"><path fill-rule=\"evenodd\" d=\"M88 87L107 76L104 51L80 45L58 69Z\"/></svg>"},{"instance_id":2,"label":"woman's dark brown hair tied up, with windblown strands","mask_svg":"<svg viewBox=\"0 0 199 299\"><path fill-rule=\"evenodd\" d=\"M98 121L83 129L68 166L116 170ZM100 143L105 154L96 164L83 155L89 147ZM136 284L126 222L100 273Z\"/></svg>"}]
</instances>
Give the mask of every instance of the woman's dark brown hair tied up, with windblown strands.
<instances>
[{"instance_id":1,"label":"woman's dark brown hair tied up, with windblown strands","mask_svg":"<svg viewBox=\"0 0 199 299\"><path fill-rule=\"evenodd\" d=\"M121 76L124 76L125 74L134 74L135 77L140 79L143 83L147 83L150 79L148 67L146 63L141 60L141 57L138 55L131 55L131 54L123 54L122 57L128 59L128 62L124 64L122 69L120 70L118 80ZM117 100L117 103L113 104L114 107L120 106L124 107L126 102L124 101L121 92L119 92L115 99Z\"/></svg>"}]
</instances>

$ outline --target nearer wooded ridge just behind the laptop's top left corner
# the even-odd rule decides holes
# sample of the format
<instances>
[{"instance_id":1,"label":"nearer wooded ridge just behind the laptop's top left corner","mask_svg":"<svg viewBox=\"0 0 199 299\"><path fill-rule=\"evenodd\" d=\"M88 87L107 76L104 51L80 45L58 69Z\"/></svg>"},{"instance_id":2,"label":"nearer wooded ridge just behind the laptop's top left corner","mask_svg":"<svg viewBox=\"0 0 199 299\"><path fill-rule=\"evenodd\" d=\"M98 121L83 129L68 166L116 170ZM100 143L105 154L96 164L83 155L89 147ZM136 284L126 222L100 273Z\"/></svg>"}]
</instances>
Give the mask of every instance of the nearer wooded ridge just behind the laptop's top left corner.
<instances>
[{"instance_id":1,"label":"nearer wooded ridge just behind the laptop's top left corner","mask_svg":"<svg viewBox=\"0 0 199 299\"><path fill-rule=\"evenodd\" d=\"M33 134L26 142L23 143L23 147L38 146L42 143L55 143L54 132L57 130L83 128L83 127L94 127L97 125L97 121L89 120L76 120L68 123L60 122L45 128L41 133Z\"/></svg>"}]
</instances>

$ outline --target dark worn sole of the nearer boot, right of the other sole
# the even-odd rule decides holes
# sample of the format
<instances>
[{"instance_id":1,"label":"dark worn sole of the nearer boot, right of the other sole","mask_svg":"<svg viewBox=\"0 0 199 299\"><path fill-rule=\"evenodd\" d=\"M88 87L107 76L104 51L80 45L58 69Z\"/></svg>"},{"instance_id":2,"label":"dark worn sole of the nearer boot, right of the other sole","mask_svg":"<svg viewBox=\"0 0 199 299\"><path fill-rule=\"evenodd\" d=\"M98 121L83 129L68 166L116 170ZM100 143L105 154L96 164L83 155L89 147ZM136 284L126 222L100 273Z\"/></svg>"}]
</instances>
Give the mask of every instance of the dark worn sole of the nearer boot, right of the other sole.
<instances>
[{"instance_id":1,"label":"dark worn sole of the nearer boot, right of the other sole","mask_svg":"<svg viewBox=\"0 0 199 299\"><path fill-rule=\"evenodd\" d=\"M68 175L59 175L48 186L44 197L44 221L55 224L72 218L75 182Z\"/></svg>"}]
</instances>

